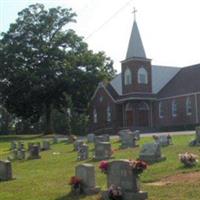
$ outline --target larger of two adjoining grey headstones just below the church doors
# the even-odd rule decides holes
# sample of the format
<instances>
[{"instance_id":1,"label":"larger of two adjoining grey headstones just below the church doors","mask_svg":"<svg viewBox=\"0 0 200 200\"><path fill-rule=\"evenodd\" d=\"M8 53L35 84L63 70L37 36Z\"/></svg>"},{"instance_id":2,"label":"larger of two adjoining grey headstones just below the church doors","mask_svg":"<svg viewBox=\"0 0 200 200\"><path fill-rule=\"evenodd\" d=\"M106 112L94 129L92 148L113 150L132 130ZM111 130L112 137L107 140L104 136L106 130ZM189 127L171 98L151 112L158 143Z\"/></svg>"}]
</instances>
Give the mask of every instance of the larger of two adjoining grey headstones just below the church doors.
<instances>
[{"instance_id":1,"label":"larger of two adjoining grey headstones just below the church doors","mask_svg":"<svg viewBox=\"0 0 200 200\"><path fill-rule=\"evenodd\" d=\"M136 145L136 140L135 134L132 132L124 132L121 134L121 148L125 149L137 147L138 145Z\"/></svg>"}]
</instances>

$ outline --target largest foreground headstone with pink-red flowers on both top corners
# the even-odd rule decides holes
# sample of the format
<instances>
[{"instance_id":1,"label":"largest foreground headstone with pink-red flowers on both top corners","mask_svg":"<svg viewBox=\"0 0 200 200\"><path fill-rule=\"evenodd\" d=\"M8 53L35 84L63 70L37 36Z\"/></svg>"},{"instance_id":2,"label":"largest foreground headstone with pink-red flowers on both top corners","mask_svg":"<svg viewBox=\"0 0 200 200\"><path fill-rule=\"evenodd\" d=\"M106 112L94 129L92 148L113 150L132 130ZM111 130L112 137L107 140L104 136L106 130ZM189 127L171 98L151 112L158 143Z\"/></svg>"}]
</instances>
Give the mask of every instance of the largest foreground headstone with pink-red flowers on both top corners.
<instances>
[{"instance_id":1,"label":"largest foreground headstone with pink-red flowers on both top corners","mask_svg":"<svg viewBox=\"0 0 200 200\"><path fill-rule=\"evenodd\" d=\"M132 170L128 160L109 162L107 170L107 187L121 188L123 200L146 200L147 192L140 191L139 177ZM108 192L103 192L104 200L109 199Z\"/></svg>"}]
</instances>

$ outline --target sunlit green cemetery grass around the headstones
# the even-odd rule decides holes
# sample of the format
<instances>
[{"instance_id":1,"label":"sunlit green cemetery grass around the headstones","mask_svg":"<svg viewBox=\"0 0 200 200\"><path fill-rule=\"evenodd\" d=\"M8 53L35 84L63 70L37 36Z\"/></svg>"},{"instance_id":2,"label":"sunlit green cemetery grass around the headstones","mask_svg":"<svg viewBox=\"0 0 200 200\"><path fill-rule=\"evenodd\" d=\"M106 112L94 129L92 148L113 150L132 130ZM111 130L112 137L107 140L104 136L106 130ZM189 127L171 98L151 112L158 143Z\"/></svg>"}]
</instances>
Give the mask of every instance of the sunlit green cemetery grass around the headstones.
<instances>
[{"instance_id":1,"label":"sunlit green cemetery grass around the headstones","mask_svg":"<svg viewBox=\"0 0 200 200\"><path fill-rule=\"evenodd\" d=\"M179 162L178 154L192 152L200 156L198 147L189 147L188 143L193 135L173 136L174 145L162 148L162 153L167 157L166 161L148 166L148 169L141 174L141 189L148 192L149 200L197 200L200 199L200 179L185 180L181 176L188 173L200 173L200 164L194 168L184 168ZM15 138L19 139L19 138ZM0 136L0 159L7 157L9 153L9 138ZM23 137L20 138L20 141ZM38 138L25 138L24 142L41 141ZM136 159L141 146L146 142L153 142L152 137L141 138L140 147L126 150L119 150L120 143L112 141L113 156L115 159ZM93 145L89 144L90 157L93 152ZM76 161L77 153L72 151L72 144L54 144L51 150L41 152L41 159L14 161L14 180L0 182L0 200L96 200L98 195L73 196L70 194L69 179L74 175L77 164L89 162L95 165L96 182L102 189L106 189L106 175L98 169L99 162L93 160ZM179 176L178 176L179 175ZM195 176L195 174L194 174ZM173 181L164 182L167 178L173 177ZM176 178L177 177L177 178ZM153 184L152 184L153 183ZM154 184L154 183L164 183Z\"/></svg>"}]
</instances>

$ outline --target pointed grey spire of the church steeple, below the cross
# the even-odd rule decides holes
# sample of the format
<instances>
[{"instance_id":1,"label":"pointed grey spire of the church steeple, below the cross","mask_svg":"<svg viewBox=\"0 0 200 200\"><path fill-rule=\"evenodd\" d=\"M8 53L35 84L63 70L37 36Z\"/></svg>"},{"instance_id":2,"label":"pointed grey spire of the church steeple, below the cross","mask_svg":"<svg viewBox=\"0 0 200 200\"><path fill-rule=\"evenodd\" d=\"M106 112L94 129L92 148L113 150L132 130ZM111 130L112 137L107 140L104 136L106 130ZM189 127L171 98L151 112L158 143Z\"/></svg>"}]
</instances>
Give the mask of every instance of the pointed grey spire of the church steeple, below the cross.
<instances>
[{"instance_id":1,"label":"pointed grey spire of the church steeple, below the cross","mask_svg":"<svg viewBox=\"0 0 200 200\"><path fill-rule=\"evenodd\" d=\"M145 50L140 37L140 32L137 26L137 22L134 20L131 36L129 39L128 50L126 53L126 59L130 58L146 58Z\"/></svg>"}]
</instances>

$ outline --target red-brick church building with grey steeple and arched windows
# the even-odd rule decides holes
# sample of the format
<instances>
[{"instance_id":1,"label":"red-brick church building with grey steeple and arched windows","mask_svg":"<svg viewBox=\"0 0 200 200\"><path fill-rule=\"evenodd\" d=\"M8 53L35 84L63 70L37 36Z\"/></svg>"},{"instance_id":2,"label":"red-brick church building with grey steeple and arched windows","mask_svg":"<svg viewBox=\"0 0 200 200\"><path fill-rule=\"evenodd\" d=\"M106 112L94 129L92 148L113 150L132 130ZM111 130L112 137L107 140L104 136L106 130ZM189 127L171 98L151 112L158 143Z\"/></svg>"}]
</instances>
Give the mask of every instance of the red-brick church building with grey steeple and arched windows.
<instances>
[{"instance_id":1,"label":"red-brick church building with grey steeple and arched windows","mask_svg":"<svg viewBox=\"0 0 200 200\"><path fill-rule=\"evenodd\" d=\"M89 131L159 130L200 121L200 64L178 68L152 65L134 20L121 73L99 83L90 102Z\"/></svg>"}]
</instances>

